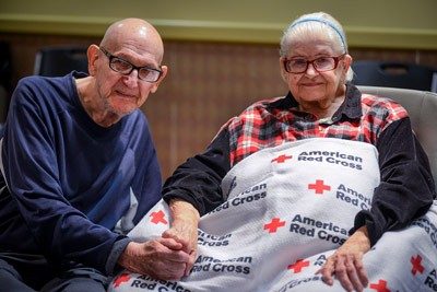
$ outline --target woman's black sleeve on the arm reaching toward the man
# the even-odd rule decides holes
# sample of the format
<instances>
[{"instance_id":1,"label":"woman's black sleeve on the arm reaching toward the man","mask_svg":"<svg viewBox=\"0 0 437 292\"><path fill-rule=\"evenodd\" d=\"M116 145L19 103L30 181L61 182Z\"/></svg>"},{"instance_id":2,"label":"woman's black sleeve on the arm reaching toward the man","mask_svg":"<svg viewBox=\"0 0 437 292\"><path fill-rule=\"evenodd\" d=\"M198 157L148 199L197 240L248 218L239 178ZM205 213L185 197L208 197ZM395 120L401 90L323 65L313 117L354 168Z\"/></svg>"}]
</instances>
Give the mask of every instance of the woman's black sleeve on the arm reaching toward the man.
<instances>
[{"instance_id":1,"label":"woman's black sleeve on the arm reaching toward the man","mask_svg":"<svg viewBox=\"0 0 437 292\"><path fill-rule=\"evenodd\" d=\"M221 183L229 170L229 135L223 129L203 153L188 159L165 182L164 200L184 199L203 215L224 202Z\"/></svg>"}]
</instances>

